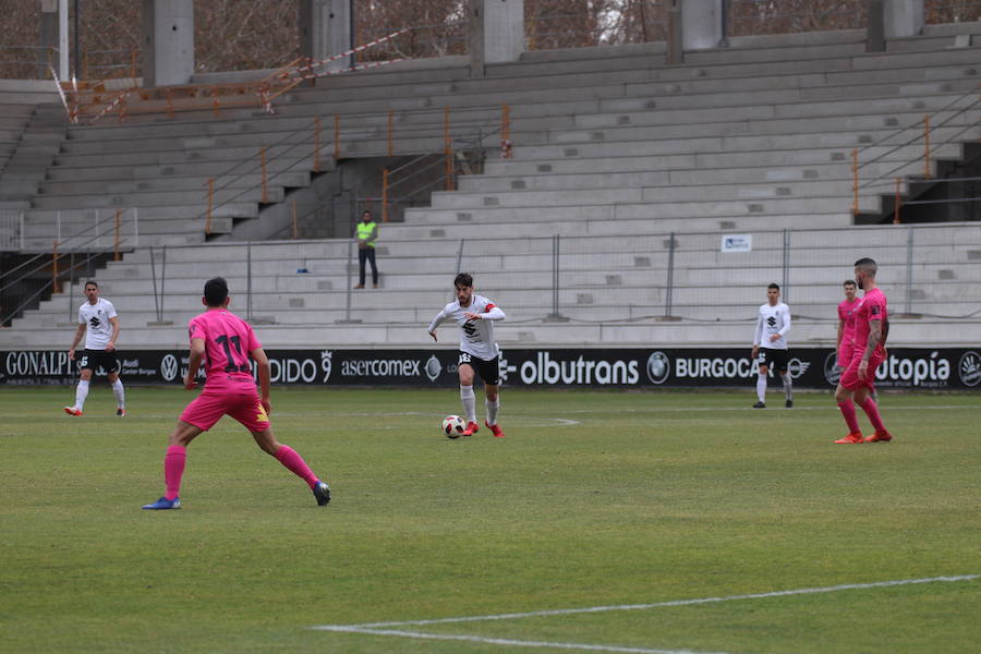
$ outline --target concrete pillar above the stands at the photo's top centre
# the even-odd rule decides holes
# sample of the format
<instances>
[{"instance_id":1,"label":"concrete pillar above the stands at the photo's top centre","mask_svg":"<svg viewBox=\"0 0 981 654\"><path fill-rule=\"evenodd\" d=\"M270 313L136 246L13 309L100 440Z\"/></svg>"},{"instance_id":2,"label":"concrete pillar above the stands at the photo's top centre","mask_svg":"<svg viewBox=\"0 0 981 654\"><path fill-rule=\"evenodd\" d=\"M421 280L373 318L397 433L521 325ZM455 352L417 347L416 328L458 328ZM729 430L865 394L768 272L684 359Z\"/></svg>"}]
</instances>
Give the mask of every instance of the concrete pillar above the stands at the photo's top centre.
<instances>
[{"instance_id":1,"label":"concrete pillar above the stands at the photo's top centre","mask_svg":"<svg viewBox=\"0 0 981 654\"><path fill-rule=\"evenodd\" d=\"M488 63L518 61L524 51L524 0L470 0L470 75Z\"/></svg>"}]
</instances>

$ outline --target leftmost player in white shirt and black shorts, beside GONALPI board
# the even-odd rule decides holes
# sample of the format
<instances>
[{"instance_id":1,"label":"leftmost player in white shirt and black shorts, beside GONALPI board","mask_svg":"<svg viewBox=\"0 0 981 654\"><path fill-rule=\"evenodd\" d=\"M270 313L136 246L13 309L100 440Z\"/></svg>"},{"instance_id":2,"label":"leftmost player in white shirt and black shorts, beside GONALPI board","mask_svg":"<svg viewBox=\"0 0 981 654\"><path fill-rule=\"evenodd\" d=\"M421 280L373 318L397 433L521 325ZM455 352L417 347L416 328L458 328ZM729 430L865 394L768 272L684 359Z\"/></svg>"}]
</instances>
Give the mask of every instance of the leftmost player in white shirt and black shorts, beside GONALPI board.
<instances>
[{"instance_id":1,"label":"leftmost player in white shirt and black shorts, beside GONALPI board","mask_svg":"<svg viewBox=\"0 0 981 654\"><path fill-rule=\"evenodd\" d=\"M86 301L78 307L78 329L75 330L75 338L69 350L69 361L74 361L75 348L85 335L85 350L78 360L81 379L75 388L75 403L65 407L64 412L69 415L82 415L92 372L101 367L108 374L116 396L116 415L122 417L126 414L126 398L122 382L119 380L119 360L116 358L119 316L112 303L99 296L99 284L95 280L85 282L85 298Z\"/></svg>"}]
</instances>

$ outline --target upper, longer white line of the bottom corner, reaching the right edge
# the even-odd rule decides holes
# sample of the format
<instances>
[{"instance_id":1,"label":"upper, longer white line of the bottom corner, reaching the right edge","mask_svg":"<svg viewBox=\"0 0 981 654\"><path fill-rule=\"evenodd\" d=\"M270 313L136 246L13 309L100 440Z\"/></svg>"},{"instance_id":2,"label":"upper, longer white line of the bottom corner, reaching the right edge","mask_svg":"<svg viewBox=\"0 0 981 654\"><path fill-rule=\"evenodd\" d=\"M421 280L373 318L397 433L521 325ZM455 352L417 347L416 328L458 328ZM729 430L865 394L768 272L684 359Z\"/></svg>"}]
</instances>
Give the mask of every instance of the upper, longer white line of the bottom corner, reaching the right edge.
<instances>
[{"instance_id":1,"label":"upper, longer white line of the bottom corner, reaching the right edge","mask_svg":"<svg viewBox=\"0 0 981 654\"><path fill-rule=\"evenodd\" d=\"M409 625L444 625L448 622L477 622L485 620L512 620L517 618L533 618L538 616L566 616L574 614L604 613L610 610L641 610L664 606L693 606L697 604L714 604L717 602L737 602L740 600L765 600L767 597L787 597L790 595L811 595L816 593L836 593L838 591L855 591L862 589L882 589L889 586L910 585L919 583L972 581L981 578L981 574L961 574L958 577L929 577L925 579L901 579L898 581L875 581L872 583L846 583L835 586L820 586L813 589L795 589L790 591L772 591L768 593L751 593L748 595L727 595L723 597L700 597L697 600L673 600L669 602L654 602L652 604L620 604L615 606L588 606L584 608L557 608L552 610L532 610L528 613L497 614L489 616L469 616L458 618L437 618L431 620L404 620L399 622L365 622L363 625L348 625L359 629L384 629L388 627L404 627ZM343 627L342 625L327 625L314 627L314 629L329 629L330 627Z\"/></svg>"}]
</instances>

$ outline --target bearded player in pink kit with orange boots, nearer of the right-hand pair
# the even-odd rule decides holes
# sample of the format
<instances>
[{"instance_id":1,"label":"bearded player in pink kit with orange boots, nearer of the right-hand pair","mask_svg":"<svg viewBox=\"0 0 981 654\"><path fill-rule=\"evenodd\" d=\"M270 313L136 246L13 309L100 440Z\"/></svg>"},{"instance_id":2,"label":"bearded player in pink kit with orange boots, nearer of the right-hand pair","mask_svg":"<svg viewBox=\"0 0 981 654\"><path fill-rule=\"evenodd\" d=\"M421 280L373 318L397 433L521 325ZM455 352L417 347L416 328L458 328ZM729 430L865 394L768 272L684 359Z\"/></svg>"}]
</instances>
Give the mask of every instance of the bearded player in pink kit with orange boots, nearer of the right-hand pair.
<instances>
[{"instance_id":1,"label":"bearded player in pink kit with orange boots, nearer of the right-hand pair","mask_svg":"<svg viewBox=\"0 0 981 654\"><path fill-rule=\"evenodd\" d=\"M835 440L841 445L860 443L888 441L892 434L882 423L879 407L870 397L875 380L875 368L885 359L885 341L889 334L888 307L886 296L875 284L877 266L870 258L861 258L855 263L855 281L858 288L865 291L862 302L855 311L855 352L851 361L841 373L838 388L835 389L835 401L848 425L848 435ZM868 438L862 437L858 425L855 404L862 408L875 433Z\"/></svg>"}]
</instances>

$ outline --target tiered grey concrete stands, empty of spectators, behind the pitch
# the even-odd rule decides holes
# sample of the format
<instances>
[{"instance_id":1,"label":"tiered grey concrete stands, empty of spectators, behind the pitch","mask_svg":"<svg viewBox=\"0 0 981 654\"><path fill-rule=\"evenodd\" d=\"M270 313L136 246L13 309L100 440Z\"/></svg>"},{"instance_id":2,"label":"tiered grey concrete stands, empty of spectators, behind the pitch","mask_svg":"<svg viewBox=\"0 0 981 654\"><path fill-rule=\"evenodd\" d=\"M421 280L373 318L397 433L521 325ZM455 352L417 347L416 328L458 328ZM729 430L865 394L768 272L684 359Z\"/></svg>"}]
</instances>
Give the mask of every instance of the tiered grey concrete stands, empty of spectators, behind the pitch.
<instances>
[{"instance_id":1,"label":"tiered grey concrete stands, empty of spectators, behind the pitch","mask_svg":"<svg viewBox=\"0 0 981 654\"><path fill-rule=\"evenodd\" d=\"M423 327L450 299L458 266L508 312L499 330L505 347L742 346L773 280L788 283L802 318L796 342L827 344L840 282L865 255L883 265L894 310L925 316L900 320L893 342L956 344L968 338L966 323L931 316L966 315L981 304L979 226L917 228L916 250L906 227L851 227L850 156L860 152L862 179L874 182L859 197L860 211L883 217L883 186L892 189L896 177L905 179L900 191L921 181L923 146L910 134L924 114L942 125L931 135L931 170L937 159L961 159L981 118L976 32L981 27L931 27L891 41L884 53L865 53L863 35L851 32L734 39L729 49L687 55L680 66L664 65L658 45L529 52L489 66L484 80L468 78L462 61L389 66L299 89L275 118L230 110L221 120L203 112L72 129L31 219L140 206L141 247L99 274L134 348L183 346L202 281L213 275L229 279L233 302L264 324L267 344L427 347ZM204 241L202 180L263 145L293 148L293 159L305 161L301 170L277 169L283 177L272 182L275 199L308 183L310 161L301 157L308 136L274 144L314 117L342 116L342 156L366 158L385 153L388 109L404 112L400 147L438 152L443 107L452 108L462 134L493 124L499 102L512 107L513 157L488 160L484 174L460 178L458 191L434 193L432 207L383 226L380 289L349 292L347 240L173 246ZM323 142L332 165L332 126ZM258 216L261 204L254 179L235 183L221 202L242 195L219 209L232 237L232 219ZM159 228L145 228L149 221ZM723 233L752 233L752 253L720 253ZM907 277L909 252L916 259ZM916 304L897 308L896 296ZM80 301L70 286L0 340L59 343ZM970 324L977 330L978 316Z\"/></svg>"}]
</instances>

